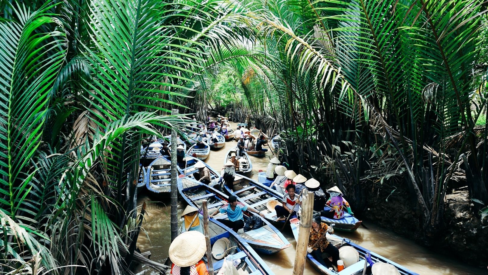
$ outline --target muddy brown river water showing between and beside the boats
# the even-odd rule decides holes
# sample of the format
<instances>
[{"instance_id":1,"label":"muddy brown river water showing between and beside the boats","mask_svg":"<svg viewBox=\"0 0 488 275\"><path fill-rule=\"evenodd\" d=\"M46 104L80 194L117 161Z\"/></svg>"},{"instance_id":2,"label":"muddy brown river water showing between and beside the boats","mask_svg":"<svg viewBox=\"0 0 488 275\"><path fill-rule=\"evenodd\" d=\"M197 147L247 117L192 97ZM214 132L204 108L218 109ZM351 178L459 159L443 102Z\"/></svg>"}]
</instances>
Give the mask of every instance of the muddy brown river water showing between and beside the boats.
<instances>
[{"instance_id":1,"label":"muddy brown river water showing between and beside the boats","mask_svg":"<svg viewBox=\"0 0 488 275\"><path fill-rule=\"evenodd\" d=\"M230 124L232 128L237 128L236 124ZM236 144L236 142L226 142L224 148L218 151L211 151L205 162L212 168L220 171L224 164L227 151L235 147ZM266 170L268 161L272 156L273 154L268 151L264 158L252 157L253 171L249 177L257 180L258 171L260 169ZM151 260L164 263L168 257L168 248L171 242L169 198L164 202L153 202L146 193L142 193L138 197L138 203L141 205L143 202L147 204L147 215L143 223L144 232L141 232L139 235L138 247L142 252L150 251L152 254ZM178 205L179 213L183 211L185 206L184 202L180 201ZM179 221L179 226L181 224L182 219ZM427 248L414 243L412 240L398 236L369 221L365 222L365 224L367 225L367 230L360 227L356 232L336 233L421 275L488 274L486 269L463 265L461 261L455 258L431 252ZM293 271L296 242L291 231L285 231L284 235L292 244L292 247L273 255L261 255L276 275L291 275ZM137 271L142 270L144 270L144 267L139 267ZM156 273L148 272L147 274ZM308 263L305 263L304 275L316 274L319 274L319 272L313 269Z\"/></svg>"}]
</instances>

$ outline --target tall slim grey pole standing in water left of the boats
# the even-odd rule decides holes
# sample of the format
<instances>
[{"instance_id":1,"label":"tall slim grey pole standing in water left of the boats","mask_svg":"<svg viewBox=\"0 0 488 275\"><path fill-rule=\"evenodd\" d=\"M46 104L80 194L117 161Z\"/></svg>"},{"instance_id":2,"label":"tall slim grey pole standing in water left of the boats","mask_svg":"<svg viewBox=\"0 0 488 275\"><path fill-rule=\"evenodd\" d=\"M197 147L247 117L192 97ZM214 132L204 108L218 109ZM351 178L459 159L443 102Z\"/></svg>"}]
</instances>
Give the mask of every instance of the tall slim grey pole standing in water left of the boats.
<instances>
[{"instance_id":1,"label":"tall slim grey pole standing in water left of the boats","mask_svg":"<svg viewBox=\"0 0 488 275\"><path fill-rule=\"evenodd\" d=\"M171 115L177 115L178 109L171 109ZM178 169L176 148L178 138L176 129L171 128L171 242L178 236Z\"/></svg>"}]
</instances>

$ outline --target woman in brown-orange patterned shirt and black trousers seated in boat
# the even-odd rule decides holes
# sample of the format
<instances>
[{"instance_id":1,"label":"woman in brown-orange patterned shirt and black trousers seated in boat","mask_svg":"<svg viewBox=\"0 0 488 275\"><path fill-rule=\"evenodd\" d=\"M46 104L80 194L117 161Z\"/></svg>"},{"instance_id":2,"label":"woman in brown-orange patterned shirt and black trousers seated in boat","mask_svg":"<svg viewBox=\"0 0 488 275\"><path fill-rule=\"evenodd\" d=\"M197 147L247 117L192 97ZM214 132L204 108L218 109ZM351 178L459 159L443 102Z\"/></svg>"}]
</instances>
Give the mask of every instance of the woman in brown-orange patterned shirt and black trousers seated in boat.
<instances>
[{"instance_id":1,"label":"woman in brown-orange patterned shirt and black trousers seated in boat","mask_svg":"<svg viewBox=\"0 0 488 275\"><path fill-rule=\"evenodd\" d=\"M324 236L321 240L320 237L325 233L334 233L334 229L329 227L326 223L323 223L319 214L315 214L312 220L312 227L310 228L310 236L308 237L308 248L307 252L312 255L312 257L318 261L323 266L329 268L332 265L337 266L337 261L339 258L339 249L327 241L327 237ZM317 243L318 242L318 243ZM312 248L312 246L317 245ZM322 258L322 253L327 253L332 257L332 262L329 258Z\"/></svg>"}]
</instances>

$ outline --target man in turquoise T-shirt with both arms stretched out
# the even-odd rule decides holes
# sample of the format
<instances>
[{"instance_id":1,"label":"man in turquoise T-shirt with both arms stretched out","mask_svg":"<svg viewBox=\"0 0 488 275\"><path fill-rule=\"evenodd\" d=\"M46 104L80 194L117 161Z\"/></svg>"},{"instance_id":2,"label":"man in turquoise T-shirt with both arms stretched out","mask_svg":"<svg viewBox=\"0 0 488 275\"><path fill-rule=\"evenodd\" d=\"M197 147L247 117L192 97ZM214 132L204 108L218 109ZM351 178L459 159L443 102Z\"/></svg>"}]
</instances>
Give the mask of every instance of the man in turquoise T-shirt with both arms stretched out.
<instances>
[{"instance_id":1,"label":"man in turquoise T-shirt with both arms stretched out","mask_svg":"<svg viewBox=\"0 0 488 275\"><path fill-rule=\"evenodd\" d=\"M254 212L259 214L260 216L264 217L264 214L255 210L252 207L248 207L247 205L243 204L242 202L237 201L236 196L229 196L229 201L227 204L224 204L223 207L213 212L210 217L213 218L217 213L221 212L223 214L227 214L226 219L217 219L219 222L223 223L227 227L230 227L234 232L238 232L239 229L244 228L244 217L243 212L249 210L250 212Z\"/></svg>"}]
</instances>

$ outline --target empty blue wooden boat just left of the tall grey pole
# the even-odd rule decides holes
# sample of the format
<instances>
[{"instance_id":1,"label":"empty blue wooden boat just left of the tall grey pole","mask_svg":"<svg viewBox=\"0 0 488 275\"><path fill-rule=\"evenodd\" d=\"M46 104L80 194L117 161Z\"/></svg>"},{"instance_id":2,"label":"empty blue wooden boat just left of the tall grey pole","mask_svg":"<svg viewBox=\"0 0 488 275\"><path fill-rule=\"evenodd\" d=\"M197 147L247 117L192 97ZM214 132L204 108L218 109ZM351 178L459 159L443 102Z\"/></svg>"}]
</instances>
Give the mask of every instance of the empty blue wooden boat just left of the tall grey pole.
<instances>
[{"instance_id":1,"label":"empty blue wooden boat just left of the tall grey pole","mask_svg":"<svg viewBox=\"0 0 488 275\"><path fill-rule=\"evenodd\" d=\"M146 188L155 198L166 198L171 192L171 162L163 156L155 159L147 168Z\"/></svg>"}]
</instances>

